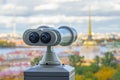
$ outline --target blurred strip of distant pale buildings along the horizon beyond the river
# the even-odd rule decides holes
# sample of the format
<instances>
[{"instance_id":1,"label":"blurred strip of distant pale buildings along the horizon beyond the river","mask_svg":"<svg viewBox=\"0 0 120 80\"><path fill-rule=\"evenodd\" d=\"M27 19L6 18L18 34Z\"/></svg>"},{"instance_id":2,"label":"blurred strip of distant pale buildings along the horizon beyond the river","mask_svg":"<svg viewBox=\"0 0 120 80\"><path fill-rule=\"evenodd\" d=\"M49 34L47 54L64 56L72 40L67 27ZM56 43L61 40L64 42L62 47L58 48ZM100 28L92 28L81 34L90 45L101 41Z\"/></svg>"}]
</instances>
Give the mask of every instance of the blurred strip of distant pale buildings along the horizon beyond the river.
<instances>
[{"instance_id":1,"label":"blurred strip of distant pale buildings along the horizon beyond the river","mask_svg":"<svg viewBox=\"0 0 120 80\"><path fill-rule=\"evenodd\" d=\"M82 42L86 40L88 34L79 33L78 39L73 46L81 46ZM92 39L97 41L99 44L110 43L112 41L120 41L120 33L92 33ZM17 33L3 33L0 34L0 47L27 47L23 42L22 36Z\"/></svg>"}]
</instances>

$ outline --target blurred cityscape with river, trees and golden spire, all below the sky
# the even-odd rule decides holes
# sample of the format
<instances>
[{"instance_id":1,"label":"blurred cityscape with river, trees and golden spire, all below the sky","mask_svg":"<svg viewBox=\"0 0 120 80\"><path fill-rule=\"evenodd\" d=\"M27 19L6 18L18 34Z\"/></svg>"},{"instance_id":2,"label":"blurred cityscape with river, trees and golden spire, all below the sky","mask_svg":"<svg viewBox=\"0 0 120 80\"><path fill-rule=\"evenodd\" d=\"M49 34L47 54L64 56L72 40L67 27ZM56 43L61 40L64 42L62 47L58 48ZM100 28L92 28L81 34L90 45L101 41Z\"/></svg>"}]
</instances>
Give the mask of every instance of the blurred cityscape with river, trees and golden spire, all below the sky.
<instances>
[{"instance_id":1,"label":"blurred cityscape with river, trees and golden spire, all below the sky","mask_svg":"<svg viewBox=\"0 0 120 80\"><path fill-rule=\"evenodd\" d=\"M98 76L101 74L100 69L120 66L120 33L93 33L89 16L87 34L78 33L78 38L73 44L67 47L58 45L53 50L62 64L69 64L76 68L76 80L82 77L84 78L81 80L87 78L103 80ZM0 80L23 80L23 72L37 65L45 51L45 47L26 45L22 36L16 31L0 34ZM86 77L84 74L86 70L81 70L82 68L91 72L87 73L90 77ZM108 80L111 75L103 77L104 80Z\"/></svg>"}]
</instances>

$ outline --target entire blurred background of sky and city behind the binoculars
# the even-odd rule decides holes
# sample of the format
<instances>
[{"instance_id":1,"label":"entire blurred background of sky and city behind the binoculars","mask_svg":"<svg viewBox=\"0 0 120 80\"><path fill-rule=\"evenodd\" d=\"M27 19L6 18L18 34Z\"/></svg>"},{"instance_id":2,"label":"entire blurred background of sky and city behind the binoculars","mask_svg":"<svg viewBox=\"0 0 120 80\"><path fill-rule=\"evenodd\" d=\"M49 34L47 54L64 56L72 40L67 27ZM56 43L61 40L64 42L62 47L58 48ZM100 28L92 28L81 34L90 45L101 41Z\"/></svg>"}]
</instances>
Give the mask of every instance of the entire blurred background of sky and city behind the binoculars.
<instances>
[{"instance_id":1,"label":"entire blurred background of sky and city behind the binoculars","mask_svg":"<svg viewBox=\"0 0 120 80\"><path fill-rule=\"evenodd\" d=\"M39 63L46 47L26 45L21 34L41 25L78 31L73 44L53 48L75 80L120 80L119 13L119 0L0 0L0 80L24 80Z\"/></svg>"}]
</instances>

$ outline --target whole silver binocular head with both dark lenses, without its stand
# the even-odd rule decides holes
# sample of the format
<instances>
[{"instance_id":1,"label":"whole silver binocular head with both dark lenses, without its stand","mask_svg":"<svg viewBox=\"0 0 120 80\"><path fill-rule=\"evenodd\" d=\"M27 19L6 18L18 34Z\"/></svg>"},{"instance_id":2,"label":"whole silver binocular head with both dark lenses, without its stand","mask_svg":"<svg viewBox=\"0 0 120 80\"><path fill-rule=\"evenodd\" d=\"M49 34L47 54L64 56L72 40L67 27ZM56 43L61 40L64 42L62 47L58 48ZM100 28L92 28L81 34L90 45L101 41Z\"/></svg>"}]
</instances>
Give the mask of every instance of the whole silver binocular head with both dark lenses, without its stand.
<instances>
[{"instance_id":1,"label":"whole silver binocular head with both dark lenses, without its stand","mask_svg":"<svg viewBox=\"0 0 120 80\"><path fill-rule=\"evenodd\" d=\"M67 46L77 38L75 29L67 26L61 26L58 29L41 26L37 29L28 29L23 34L23 40L31 46Z\"/></svg>"}]
</instances>

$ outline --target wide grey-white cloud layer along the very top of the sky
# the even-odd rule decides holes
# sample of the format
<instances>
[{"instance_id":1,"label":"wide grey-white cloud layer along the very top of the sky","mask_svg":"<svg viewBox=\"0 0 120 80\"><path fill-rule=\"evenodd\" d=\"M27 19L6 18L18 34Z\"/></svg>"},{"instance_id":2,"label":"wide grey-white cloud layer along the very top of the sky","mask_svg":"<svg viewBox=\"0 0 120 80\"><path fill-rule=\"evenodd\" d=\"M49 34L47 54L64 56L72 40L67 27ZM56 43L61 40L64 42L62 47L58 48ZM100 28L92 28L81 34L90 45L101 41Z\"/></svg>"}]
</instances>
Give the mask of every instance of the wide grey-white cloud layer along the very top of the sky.
<instances>
[{"instance_id":1,"label":"wide grey-white cloud layer along the very top of the sky","mask_svg":"<svg viewBox=\"0 0 120 80\"><path fill-rule=\"evenodd\" d=\"M17 16L88 16L88 10L91 6L91 15L93 16L120 16L120 3L118 0L37 0L36 2L33 0L13 1L14 3L3 4L0 6L1 15L12 16L13 14L16 14ZM31 5L27 4L27 2L30 2ZM20 4L16 5L18 3Z\"/></svg>"}]
</instances>

